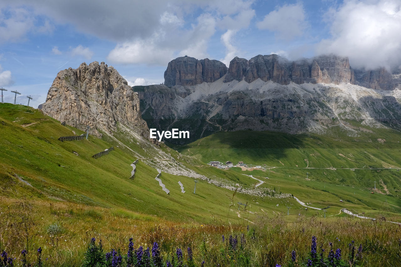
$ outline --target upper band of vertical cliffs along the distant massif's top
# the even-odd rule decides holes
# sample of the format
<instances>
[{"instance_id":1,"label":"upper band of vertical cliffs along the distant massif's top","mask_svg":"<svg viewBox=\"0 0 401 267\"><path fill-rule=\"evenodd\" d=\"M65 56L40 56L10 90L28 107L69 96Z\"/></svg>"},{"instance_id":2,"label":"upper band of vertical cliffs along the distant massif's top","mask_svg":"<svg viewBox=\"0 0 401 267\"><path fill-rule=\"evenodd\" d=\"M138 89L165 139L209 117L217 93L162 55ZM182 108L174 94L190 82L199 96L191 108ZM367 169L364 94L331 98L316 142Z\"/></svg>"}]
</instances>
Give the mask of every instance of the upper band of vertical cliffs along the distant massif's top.
<instances>
[{"instance_id":1,"label":"upper band of vertical cliffs along the distant massif's top","mask_svg":"<svg viewBox=\"0 0 401 267\"><path fill-rule=\"evenodd\" d=\"M226 72L225 72L226 69ZM260 78L281 85L302 83L351 83L372 89L393 90L401 79L385 68L375 70L352 69L348 57L333 54L311 59L289 61L279 55L257 55L249 60L235 57L227 68L217 60L178 57L168 63L164 72L164 85L190 86L214 82L223 77L225 83L245 80L251 83Z\"/></svg>"}]
</instances>

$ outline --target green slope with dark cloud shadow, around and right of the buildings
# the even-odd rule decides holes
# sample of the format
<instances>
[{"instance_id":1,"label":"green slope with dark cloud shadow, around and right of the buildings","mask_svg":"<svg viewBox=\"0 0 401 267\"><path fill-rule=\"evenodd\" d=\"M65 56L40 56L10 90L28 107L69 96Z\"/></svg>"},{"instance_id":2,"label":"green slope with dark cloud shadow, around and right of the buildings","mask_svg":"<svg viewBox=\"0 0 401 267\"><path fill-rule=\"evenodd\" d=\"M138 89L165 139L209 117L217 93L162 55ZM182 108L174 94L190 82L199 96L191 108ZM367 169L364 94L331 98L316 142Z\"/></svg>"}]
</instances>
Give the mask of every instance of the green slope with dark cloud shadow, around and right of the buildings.
<instances>
[{"instance_id":1,"label":"green slope with dark cloud shadow, around and right of the buildings","mask_svg":"<svg viewBox=\"0 0 401 267\"><path fill-rule=\"evenodd\" d=\"M225 172L253 175L265 181L261 187L294 194L310 206L330 206L327 215L348 208L354 213L365 212L365 216L399 220L401 172L397 167L401 166L401 135L390 129L363 127L365 131L354 137L335 127L327 136L219 132L178 151L204 163L229 160L261 165L266 170L232 168ZM373 189L375 181L377 191Z\"/></svg>"}]
</instances>

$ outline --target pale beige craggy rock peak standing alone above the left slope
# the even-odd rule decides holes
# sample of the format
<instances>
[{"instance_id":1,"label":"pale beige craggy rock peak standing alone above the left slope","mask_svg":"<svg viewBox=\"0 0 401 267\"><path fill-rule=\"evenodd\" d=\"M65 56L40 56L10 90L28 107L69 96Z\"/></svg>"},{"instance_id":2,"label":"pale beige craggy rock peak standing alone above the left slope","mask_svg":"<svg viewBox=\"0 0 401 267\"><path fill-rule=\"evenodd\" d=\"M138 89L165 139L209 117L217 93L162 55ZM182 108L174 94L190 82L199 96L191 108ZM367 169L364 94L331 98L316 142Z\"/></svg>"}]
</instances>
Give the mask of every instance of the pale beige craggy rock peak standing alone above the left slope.
<instances>
[{"instance_id":1,"label":"pale beige craggy rock peak standing alone above the left slope","mask_svg":"<svg viewBox=\"0 0 401 267\"><path fill-rule=\"evenodd\" d=\"M77 69L60 71L41 108L46 115L79 129L86 130L89 125L95 136L101 136L100 131L112 134L117 123L122 123L149 138L138 93L104 62L82 63Z\"/></svg>"}]
</instances>

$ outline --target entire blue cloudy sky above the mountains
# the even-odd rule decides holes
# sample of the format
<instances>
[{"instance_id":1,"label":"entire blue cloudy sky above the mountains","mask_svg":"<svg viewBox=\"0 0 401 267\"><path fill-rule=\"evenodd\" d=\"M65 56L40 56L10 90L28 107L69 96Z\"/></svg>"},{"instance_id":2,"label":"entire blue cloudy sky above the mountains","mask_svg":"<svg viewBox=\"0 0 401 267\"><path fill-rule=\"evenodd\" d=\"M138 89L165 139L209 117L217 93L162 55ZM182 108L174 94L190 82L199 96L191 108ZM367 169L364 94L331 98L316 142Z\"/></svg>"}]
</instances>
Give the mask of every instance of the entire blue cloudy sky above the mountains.
<instances>
[{"instance_id":1,"label":"entire blue cloudy sky above the mountains","mask_svg":"<svg viewBox=\"0 0 401 267\"><path fill-rule=\"evenodd\" d=\"M164 82L167 64L334 53L352 68L401 65L401 0L1 0L4 102L37 107L57 73L104 61L133 85Z\"/></svg>"}]
</instances>

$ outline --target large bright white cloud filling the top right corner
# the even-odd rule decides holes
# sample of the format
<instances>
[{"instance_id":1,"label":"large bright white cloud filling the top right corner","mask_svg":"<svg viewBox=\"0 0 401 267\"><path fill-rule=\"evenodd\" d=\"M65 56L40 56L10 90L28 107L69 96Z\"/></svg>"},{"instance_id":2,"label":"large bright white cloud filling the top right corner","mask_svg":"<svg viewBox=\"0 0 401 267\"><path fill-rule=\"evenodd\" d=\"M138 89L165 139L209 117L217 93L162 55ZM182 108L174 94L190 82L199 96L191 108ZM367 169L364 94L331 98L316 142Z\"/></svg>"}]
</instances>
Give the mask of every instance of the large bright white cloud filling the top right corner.
<instances>
[{"instance_id":1,"label":"large bright white cloud filling the top right corner","mask_svg":"<svg viewBox=\"0 0 401 267\"><path fill-rule=\"evenodd\" d=\"M346 1L331 10L332 38L322 40L318 53L348 56L352 67L398 67L401 61L399 0Z\"/></svg>"}]
</instances>

